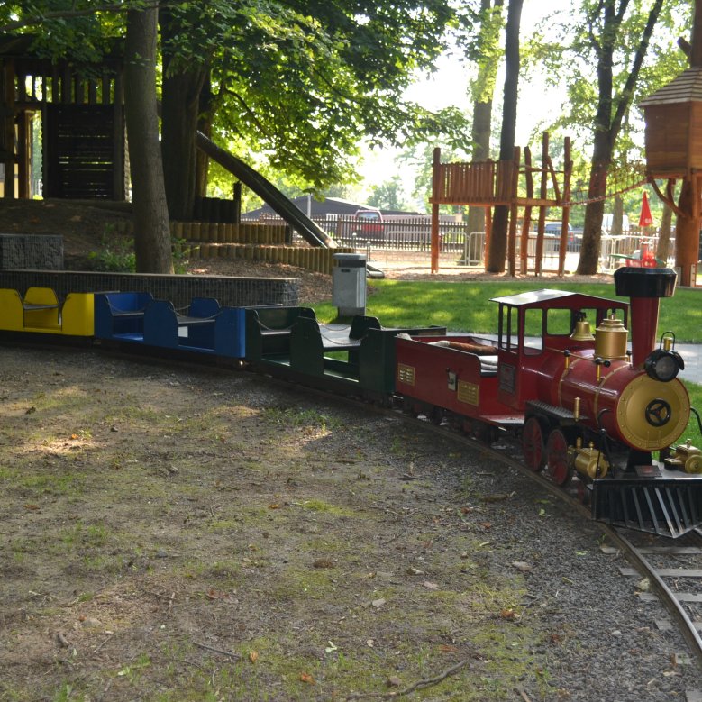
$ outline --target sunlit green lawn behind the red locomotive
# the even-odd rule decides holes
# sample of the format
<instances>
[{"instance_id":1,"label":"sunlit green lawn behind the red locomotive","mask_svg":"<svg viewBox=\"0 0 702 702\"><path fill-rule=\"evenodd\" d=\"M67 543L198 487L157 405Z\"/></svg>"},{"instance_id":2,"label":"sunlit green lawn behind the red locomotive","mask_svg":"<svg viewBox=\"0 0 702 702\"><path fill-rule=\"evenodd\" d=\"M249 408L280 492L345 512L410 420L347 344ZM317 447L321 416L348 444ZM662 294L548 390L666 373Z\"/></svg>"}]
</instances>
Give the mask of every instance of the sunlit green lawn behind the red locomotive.
<instances>
[{"instance_id":1,"label":"sunlit green lawn behind the red locomotive","mask_svg":"<svg viewBox=\"0 0 702 702\"><path fill-rule=\"evenodd\" d=\"M572 290L588 295L621 299L611 284L572 284L528 282L410 282L403 280L373 280L369 282L367 314L376 316L385 326L418 326L438 324L453 332L496 333L497 304L493 297L551 287ZM331 302L315 305L318 318L331 321L336 308ZM661 300L659 336L675 333L677 342L702 343L702 290L678 289L675 295ZM702 386L686 382L692 406L702 411ZM699 446L702 443L693 418L688 432Z\"/></svg>"}]
</instances>

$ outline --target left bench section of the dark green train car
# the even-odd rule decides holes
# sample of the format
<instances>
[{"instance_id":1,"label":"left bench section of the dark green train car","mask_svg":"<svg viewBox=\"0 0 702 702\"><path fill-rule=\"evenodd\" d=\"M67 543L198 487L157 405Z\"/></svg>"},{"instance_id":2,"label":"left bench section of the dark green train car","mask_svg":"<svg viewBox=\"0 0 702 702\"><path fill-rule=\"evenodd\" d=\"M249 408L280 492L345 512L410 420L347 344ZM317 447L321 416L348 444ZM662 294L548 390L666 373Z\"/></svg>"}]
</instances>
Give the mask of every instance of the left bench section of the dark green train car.
<instances>
[{"instance_id":1,"label":"left bench section of the dark green train car","mask_svg":"<svg viewBox=\"0 0 702 702\"><path fill-rule=\"evenodd\" d=\"M269 305L246 308L246 360L287 363L290 332L298 317L315 319L311 307Z\"/></svg>"}]
</instances>

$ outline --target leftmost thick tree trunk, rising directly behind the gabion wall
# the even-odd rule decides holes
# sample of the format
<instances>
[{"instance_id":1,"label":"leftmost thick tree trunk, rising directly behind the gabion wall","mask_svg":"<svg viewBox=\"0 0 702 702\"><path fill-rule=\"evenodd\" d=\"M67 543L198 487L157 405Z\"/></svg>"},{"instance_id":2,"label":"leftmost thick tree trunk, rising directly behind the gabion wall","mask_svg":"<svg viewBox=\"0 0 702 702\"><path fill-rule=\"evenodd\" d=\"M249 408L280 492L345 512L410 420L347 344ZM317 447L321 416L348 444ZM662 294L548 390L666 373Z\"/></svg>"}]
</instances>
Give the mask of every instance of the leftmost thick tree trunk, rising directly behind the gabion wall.
<instances>
[{"instance_id":1,"label":"leftmost thick tree trunk, rising directly behind the gabion wall","mask_svg":"<svg viewBox=\"0 0 702 702\"><path fill-rule=\"evenodd\" d=\"M139 273L173 272L156 111L156 14L155 9L130 10L124 44L124 114Z\"/></svg>"}]
</instances>

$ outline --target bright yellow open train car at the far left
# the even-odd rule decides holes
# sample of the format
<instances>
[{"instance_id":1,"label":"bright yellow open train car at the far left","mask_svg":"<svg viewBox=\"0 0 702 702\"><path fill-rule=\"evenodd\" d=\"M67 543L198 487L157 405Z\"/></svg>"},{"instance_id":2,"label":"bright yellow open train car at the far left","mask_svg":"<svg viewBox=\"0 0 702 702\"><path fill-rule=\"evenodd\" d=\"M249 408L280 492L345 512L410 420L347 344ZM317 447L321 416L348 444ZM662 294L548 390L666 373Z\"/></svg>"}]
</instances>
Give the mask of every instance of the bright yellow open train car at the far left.
<instances>
[{"instance_id":1,"label":"bright yellow open train car at the far left","mask_svg":"<svg viewBox=\"0 0 702 702\"><path fill-rule=\"evenodd\" d=\"M10 332L92 336L92 293L69 293L59 303L50 287L30 287L24 297L14 289L0 289L0 329Z\"/></svg>"}]
</instances>

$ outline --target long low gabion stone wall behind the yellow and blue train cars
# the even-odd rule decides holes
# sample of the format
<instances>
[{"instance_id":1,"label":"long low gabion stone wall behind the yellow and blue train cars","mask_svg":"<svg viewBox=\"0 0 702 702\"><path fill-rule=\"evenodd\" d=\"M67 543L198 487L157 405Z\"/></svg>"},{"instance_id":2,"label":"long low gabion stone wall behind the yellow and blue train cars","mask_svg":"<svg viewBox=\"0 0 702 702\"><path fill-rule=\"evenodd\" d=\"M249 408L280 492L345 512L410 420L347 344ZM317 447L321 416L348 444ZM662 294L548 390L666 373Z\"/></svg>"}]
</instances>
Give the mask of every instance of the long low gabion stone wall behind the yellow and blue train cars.
<instances>
[{"instance_id":1,"label":"long low gabion stone wall behind the yellow and blue train cars","mask_svg":"<svg viewBox=\"0 0 702 702\"><path fill-rule=\"evenodd\" d=\"M169 276L141 273L102 273L52 270L0 270L0 287L24 295L28 287L51 287L59 299L68 293L149 292L158 299L185 307L193 297L214 297L220 305L297 305L299 278L234 278L228 276Z\"/></svg>"}]
</instances>

